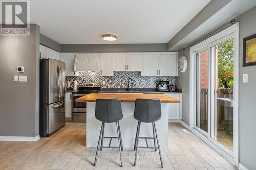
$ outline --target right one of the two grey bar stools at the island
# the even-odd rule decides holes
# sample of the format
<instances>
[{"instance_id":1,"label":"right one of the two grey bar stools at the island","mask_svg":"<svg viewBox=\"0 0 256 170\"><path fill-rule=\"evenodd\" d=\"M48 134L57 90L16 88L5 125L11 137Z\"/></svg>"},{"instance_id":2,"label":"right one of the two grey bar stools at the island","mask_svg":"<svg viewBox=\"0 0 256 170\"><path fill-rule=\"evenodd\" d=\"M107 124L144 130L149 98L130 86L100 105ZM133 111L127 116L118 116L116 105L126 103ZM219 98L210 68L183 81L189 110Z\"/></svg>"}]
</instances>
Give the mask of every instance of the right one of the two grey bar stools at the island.
<instances>
[{"instance_id":1,"label":"right one of the two grey bar stools at the island","mask_svg":"<svg viewBox=\"0 0 256 170\"><path fill-rule=\"evenodd\" d=\"M135 102L134 118L138 120L136 138L134 142L134 151L136 150L134 166L136 165L138 148L143 148L143 149L155 149L155 151L157 151L158 149L160 161L161 161L161 167L163 167L160 145L159 145L158 136L157 136L157 129L155 125L155 122L161 119L160 100L159 99L137 99ZM139 137L141 122L152 123L153 137ZM138 141L140 138L145 139L146 147L138 147L138 143L139 143ZM154 147L148 147L147 139L154 139ZM156 146L156 140L157 140L157 146Z\"/></svg>"}]
</instances>

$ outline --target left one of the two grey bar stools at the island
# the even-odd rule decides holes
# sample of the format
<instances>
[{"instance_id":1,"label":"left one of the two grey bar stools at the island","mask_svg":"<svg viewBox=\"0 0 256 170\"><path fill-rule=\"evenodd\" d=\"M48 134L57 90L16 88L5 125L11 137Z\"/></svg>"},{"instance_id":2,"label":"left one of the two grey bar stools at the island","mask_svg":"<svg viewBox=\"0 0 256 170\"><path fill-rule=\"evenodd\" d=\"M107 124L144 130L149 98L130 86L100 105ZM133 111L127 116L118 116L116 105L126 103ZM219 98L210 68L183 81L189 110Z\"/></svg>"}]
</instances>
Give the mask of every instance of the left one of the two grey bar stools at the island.
<instances>
[{"instance_id":1,"label":"left one of the two grey bar stools at the island","mask_svg":"<svg viewBox=\"0 0 256 170\"><path fill-rule=\"evenodd\" d=\"M99 149L102 151L103 148L119 148L120 162L121 162L120 166L122 167L121 150L123 151L123 144L122 144L119 120L123 118L123 114L122 114L120 99L97 99L96 107L95 107L95 117L99 121L101 121L102 124L101 124L101 129L99 134L99 141L97 145L96 156L94 160L94 166L96 166L96 163L97 163ZM105 123L116 123L117 137L104 137ZM108 147L103 147L104 138L110 139L110 143ZM118 139L118 147L110 146L113 138ZM100 141L101 141L101 144L100 144Z\"/></svg>"}]
</instances>

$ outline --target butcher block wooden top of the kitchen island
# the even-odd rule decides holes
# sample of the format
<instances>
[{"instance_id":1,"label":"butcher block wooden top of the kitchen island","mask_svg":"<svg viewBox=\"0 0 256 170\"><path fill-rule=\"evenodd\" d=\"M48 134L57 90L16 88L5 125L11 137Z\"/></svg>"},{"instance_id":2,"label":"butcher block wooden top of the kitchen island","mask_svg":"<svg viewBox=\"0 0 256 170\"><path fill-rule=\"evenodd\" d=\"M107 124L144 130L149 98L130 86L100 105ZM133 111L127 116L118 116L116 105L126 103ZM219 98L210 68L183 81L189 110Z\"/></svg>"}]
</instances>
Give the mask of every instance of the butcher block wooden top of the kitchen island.
<instances>
[{"instance_id":1,"label":"butcher block wooden top of the kitchen island","mask_svg":"<svg viewBox=\"0 0 256 170\"><path fill-rule=\"evenodd\" d=\"M75 100L75 102L95 102L97 99L120 99L121 102L135 102L136 99L160 99L161 103L180 103L180 100L165 94L115 94L91 93Z\"/></svg>"}]
</instances>

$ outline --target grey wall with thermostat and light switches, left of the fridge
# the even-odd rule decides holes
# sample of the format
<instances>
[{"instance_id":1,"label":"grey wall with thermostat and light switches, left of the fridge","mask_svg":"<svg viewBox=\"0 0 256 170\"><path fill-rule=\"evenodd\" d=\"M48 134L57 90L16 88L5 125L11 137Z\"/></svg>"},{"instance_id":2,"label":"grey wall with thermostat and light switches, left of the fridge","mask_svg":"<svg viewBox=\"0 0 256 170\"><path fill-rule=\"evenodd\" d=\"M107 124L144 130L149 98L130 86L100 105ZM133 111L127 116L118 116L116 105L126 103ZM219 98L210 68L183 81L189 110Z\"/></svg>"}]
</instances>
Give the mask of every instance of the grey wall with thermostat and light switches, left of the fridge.
<instances>
[{"instance_id":1,"label":"grey wall with thermostat and light switches, left of the fridge","mask_svg":"<svg viewBox=\"0 0 256 170\"><path fill-rule=\"evenodd\" d=\"M0 136L39 134L38 49L37 25L30 26L30 36L0 36ZM24 74L16 66L25 66ZM14 75L28 76L28 82L14 82Z\"/></svg>"}]
</instances>

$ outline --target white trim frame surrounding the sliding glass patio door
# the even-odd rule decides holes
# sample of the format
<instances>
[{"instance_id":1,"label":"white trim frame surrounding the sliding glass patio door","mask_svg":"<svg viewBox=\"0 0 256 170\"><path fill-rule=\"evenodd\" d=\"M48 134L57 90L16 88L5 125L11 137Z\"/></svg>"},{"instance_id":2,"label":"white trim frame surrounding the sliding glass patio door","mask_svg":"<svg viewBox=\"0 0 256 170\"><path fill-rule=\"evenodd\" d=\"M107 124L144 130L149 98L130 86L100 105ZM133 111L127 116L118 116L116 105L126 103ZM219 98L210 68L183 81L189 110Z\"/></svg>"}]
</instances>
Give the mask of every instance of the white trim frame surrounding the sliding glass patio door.
<instances>
[{"instance_id":1,"label":"white trim frame surrounding the sliding glass patio door","mask_svg":"<svg viewBox=\"0 0 256 170\"><path fill-rule=\"evenodd\" d=\"M229 34L234 34L234 99L236 99L236 103L234 104L234 116L233 116L233 124L234 124L234 141L233 141L233 148L234 148L234 157L232 158L233 161L231 163L234 163L236 166L239 164L239 22L230 26L229 28L211 36L210 38L190 47L189 52L189 127L191 130L196 131L193 129L194 126L194 115L196 113L196 61L195 61L195 52L199 51L202 48L205 48L208 46L209 52L210 52L210 46L209 44L211 42L217 41L218 39L221 39L222 37L225 37ZM236 96L236 97L235 97ZM196 131L197 132L197 131ZM209 144L208 138L202 138L205 142ZM212 143L212 142L210 142ZM214 144L214 143L212 143ZM215 144L214 144L215 145ZM216 145L215 145L216 146ZM216 147L214 147L216 149ZM216 149L216 151L220 152L221 154L225 153L221 149ZM222 152L221 152L222 151ZM224 154L223 156L230 160L230 156L228 154Z\"/></svg>"}]
</instances>

